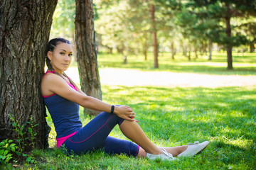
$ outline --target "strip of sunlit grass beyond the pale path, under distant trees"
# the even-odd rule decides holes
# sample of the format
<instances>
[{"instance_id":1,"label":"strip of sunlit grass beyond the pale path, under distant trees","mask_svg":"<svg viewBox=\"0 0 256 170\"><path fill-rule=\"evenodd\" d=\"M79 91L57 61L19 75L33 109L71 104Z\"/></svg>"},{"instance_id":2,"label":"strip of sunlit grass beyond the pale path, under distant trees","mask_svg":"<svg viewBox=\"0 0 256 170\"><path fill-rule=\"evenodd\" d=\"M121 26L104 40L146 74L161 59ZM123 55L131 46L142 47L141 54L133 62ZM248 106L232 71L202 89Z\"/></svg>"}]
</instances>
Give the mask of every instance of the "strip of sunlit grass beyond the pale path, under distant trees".
<instances>
[{"instance_id":1,"label":"strip of sunlit grass beyond the pale path, under distant trees","mask_svg":"<svg viewBox=\"0 0 256 170\"><path fill-rule=\"evenodd\" d=\"M256 74L256 53L245 53L244 55L233 52L233 70L227 70L227 57L223 52L213 52L213 59L208 61L206 55L191 61L181 54L176 55L175 60L171 60L171 53L164 52L159 54L159 69L154 69L153 55L148 54L148 60L144 60L143 55L129 55L128 63L122 64L123 58L119 54L98 55L100 68L124 68L139 69L142 71L169 71L169 72L190 72L200 74L222 74L222 75L255 75Z\"/></svg>"}]
</instances>

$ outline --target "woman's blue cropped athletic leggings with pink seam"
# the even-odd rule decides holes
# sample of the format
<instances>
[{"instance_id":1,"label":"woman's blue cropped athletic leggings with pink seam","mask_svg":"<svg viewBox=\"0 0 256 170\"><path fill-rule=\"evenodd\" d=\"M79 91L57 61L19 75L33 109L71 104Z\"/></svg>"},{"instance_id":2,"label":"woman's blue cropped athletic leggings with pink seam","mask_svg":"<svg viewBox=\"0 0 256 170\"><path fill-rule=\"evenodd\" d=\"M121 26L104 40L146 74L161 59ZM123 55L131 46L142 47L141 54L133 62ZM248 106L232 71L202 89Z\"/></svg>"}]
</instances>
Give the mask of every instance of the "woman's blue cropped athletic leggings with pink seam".
<instances>
[{"instance_id":1,"label":"woman's blue cropped athletic leggings with pink seam","mask_svg":"<svg viewBox=\"0 0 256 170\"><path fill-rule=\"evenodd\" d=\"M121 125L124 119L112 113L102 112L75 135L63 142L69 153L81 154L95 149L102 149L108 154L127 154L137 157L139 145L128 140L119 140L108 136L115 125Z\"/></svg>"}]
</instances>

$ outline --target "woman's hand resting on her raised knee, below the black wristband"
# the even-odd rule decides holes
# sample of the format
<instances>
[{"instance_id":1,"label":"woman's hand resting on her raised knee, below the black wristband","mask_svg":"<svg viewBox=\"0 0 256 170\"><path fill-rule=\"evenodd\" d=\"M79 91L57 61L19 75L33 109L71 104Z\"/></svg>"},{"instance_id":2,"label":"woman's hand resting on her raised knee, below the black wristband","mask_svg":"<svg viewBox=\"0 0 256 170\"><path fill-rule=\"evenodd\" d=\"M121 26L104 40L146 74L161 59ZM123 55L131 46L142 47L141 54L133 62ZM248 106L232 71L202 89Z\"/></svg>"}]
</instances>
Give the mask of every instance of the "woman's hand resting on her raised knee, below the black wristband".
<instances>
[{"instance_id":1,"label":"woman's hand resting on her raised knee, below the black wristband","mask_svg":"<svg viewBox=\"0 0 256 170\"><path fill-rule=\"evenodd\" d=\"M116 114L119 118L123 118L124 120L134 121L135 113L132 111L132 108L129 106L114 106L114 114Z\"/></svg>"}]
</instances>

